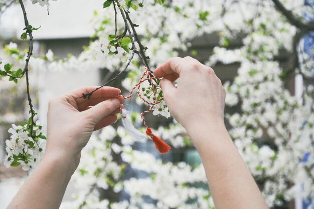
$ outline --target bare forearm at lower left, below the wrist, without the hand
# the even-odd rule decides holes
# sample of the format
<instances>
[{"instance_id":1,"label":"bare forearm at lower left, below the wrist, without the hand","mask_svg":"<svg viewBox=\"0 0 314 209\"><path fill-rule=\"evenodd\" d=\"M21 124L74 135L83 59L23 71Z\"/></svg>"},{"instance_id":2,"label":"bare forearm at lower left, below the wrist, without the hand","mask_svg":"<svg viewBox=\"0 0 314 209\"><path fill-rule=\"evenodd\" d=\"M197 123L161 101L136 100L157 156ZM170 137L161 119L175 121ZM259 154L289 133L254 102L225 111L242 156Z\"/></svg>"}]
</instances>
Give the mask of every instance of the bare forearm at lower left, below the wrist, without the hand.
<instances>
[{"instance_id":1,"label":"bare forearm at lower left, below the wrist, without the hand","mask_svg":"<svg viewBox=\"0 0 314 209\"><path fill-rule=\"evenodd\" d=\"M67 163L67 159L45 155L18 191L8 209L59 208L71 178L70 166L71 163Z\"/></svg>"}]
</instances>

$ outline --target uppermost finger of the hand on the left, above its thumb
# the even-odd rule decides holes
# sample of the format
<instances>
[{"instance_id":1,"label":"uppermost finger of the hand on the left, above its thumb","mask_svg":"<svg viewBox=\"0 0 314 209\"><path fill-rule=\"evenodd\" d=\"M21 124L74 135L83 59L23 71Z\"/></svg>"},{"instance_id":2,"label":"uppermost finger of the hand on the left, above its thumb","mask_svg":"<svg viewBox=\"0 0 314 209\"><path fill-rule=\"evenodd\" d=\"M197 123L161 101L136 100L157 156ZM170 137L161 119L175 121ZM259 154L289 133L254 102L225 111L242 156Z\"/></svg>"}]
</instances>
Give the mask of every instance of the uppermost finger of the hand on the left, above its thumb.
<instances>
[{"instance_id":1,"label":"uppermost finger of the hand on the left, above its thumb","mask_svg":"<svg viewBox=\"0 0 314 209\"><path fill-rule=\"evenodd\" d=\"M84 99L84 98L79 98L79 97L81 97L83 94L87 94L87 93L95 90L98 87L99 86L81 87L81 88L77 88L77 89L74 89L72 91L69 91L69 92L65 93L65 95L73 97L74 99L76 99L77 104L80 104L80 103L84 102L87 98ZM116 97L120 92L121 92L120 89L110 87L110 86L104 86L104 87L98 89L97 91L93 92L89 99L99 99L99 98L104 98L104 97Z\"/></svg>"}]
</instances>

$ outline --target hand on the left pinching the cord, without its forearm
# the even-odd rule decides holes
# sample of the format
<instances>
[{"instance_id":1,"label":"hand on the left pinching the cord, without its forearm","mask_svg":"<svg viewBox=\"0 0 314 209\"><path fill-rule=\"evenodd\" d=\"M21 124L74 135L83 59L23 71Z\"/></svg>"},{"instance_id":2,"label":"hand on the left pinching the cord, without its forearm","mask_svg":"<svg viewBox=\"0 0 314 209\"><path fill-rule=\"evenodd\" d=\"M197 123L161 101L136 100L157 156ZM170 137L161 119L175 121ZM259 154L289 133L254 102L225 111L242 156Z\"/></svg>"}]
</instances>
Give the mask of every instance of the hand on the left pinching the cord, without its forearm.
<instances>
[{"instance_id":1,"label":"hand on the left pinching the cord, without its forearm","mask_svg":"<svg viewBox=\"0 0 314 209\"><path fill-rule=\"evenodd\" d=\"M119 89L103 87L95 91L90 99L78 98L95 88L97 86L78 88L49 102L45 157L69 159L70 164L74 163L72 173L92 132L117 120L116 113L122 101L121 97L116 98Z\"/></svg>"}]
</instances>

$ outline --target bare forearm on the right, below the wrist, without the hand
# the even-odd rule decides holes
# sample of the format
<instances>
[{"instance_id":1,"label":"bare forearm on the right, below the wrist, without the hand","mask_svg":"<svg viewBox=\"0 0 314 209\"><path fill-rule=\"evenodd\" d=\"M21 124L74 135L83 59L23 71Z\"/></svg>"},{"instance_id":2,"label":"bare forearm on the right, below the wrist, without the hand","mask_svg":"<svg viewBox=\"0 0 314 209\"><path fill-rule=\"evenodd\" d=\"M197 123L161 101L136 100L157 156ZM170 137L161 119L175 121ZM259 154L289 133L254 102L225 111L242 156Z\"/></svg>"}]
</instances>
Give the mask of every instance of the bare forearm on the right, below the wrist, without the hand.
<instances>
[{"instance_id":1,"label":"bare forearm on the right, below the wrist, without the hand","mask_svg":"<svg viewBox=\"0 0 314 209\"><path fill-rule=\"evenodd\" d=\"M199 126L189 134L202 158L217 209L268 208L224 125Z\"/></svg>"}]
</instances>

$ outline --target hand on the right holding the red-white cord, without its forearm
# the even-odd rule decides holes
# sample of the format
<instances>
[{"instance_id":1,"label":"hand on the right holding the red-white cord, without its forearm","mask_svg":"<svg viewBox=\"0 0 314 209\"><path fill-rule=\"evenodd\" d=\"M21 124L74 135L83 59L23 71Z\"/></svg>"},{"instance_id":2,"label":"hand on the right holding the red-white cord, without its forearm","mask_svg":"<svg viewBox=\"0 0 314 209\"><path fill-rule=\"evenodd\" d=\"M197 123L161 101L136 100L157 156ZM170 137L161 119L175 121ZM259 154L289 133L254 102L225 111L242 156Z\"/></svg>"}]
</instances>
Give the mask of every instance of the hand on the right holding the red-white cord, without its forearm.
<instances>
[{"instance_id":1,"label":"hand on the right holding the red-white cord, without its forearm","mask_svg":"<svg viewBox=\"0 0 314 209\"><path fill-rule=\"evenodd\" d=\"M172 116L187 130L203 124L224 126L225 90L212 68L191 57L174 57L156 68ZM180 77L177 88L174 85Z\"/></svg>"}]
</instances>

